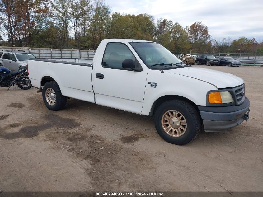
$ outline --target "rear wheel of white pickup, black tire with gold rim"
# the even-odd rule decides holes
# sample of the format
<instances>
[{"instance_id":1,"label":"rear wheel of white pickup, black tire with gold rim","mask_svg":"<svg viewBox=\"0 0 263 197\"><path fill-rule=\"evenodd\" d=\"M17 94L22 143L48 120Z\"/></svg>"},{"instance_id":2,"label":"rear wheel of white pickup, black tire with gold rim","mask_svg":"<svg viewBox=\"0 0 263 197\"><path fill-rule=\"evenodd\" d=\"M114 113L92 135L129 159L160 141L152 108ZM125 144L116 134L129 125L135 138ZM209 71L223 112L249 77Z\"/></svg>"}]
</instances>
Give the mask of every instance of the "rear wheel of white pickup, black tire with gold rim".
<instances>
[{"instance_id":1,"label":"rear wheel of white pickup, black tire with gold rim","mask_svg":"<svg viewBox=\"0 0 263 197\"><path fill-rule=\"evenodd\" d=\"M56 82L45 83L42 90L42 97L49 110L58 111L65 107L67 98L62 95L59 85Z\"/></svg>"}]
</instances>

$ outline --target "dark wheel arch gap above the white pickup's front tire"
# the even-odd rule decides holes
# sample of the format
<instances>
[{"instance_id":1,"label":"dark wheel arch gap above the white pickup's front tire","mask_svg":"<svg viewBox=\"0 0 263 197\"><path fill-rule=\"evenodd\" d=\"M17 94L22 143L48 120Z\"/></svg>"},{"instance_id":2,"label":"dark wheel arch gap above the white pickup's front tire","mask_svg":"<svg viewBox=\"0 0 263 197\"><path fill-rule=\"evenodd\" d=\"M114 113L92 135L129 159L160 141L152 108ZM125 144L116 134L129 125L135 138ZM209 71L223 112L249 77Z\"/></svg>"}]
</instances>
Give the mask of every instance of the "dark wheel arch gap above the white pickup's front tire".
<instances>
[{"instance_id":1,"label":"dark wheel arch gap above the white pickup's front tire","mask_svg":"<svg viewBox=\"0 0 263 197\"><path fill-rule=\"evenodd\" d=\"M184 96L179 96L179 95L165 95L165 96L161 96L159 97L156 101L153 102L153 105L151 107L151 110L150 110L150 116L153 116L157 110L157 108L164 102L166 101L170 101L170 100L175 100L175 99L178 99L178 100L182 100L182 101L186 101L188 103L190 103L199 113L199 110L198 110L198 107L197 105L191 101L190 99L184 97Z\"/></svg>"}]
</instances>

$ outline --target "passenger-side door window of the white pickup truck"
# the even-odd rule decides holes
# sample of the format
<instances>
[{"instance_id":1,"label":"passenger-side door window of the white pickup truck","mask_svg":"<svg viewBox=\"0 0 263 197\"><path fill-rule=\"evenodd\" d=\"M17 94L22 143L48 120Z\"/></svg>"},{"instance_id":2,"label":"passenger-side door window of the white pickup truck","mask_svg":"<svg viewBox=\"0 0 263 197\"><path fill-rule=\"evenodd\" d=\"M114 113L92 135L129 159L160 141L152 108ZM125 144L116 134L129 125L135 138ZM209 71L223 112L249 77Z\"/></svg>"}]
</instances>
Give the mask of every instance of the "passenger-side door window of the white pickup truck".
<instances>
[{"instance_id":1,"label":"passenger-side door window of the white pickup truck","mask_svg":"<svg viewBox=\"0 0 263 197\"><path fill-rule=\"evenodd\" d=\"M106 46L102 66L105 68L122 68L124 59L132 59L135 61L134 55L126 45L110 42Z\"/></svg>"}]
</instances>

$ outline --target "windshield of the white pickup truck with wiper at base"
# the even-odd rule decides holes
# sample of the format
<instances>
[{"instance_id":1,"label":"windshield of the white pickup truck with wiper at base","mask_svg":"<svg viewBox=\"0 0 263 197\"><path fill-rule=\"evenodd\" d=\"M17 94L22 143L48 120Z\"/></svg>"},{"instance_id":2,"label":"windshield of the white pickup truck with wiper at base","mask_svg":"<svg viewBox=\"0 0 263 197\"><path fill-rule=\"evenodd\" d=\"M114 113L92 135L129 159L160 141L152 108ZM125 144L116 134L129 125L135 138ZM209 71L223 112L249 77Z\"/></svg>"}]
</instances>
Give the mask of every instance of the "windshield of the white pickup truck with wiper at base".
<instances>
[{"instance_id":1,"label":"windshield of the white pickup truck with wiper at base","mask_svg":"<svg viewBox=\"0 0 263 197\"><path fill-rule=\"evenodd\" d=\"M171 69L188 67L174 54L158 43L132 42L130 43L145 65L151 69Z\"/></svg>"}]
</instances>

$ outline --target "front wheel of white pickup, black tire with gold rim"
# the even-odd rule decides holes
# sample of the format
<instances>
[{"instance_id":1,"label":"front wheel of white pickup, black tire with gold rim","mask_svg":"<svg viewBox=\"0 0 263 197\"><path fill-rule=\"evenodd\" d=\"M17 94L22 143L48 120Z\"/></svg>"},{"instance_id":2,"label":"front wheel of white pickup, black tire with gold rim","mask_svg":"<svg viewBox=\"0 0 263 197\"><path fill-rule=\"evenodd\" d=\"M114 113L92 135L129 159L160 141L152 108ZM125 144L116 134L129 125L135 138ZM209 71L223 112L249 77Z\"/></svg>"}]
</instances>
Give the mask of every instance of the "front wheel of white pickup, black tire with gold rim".
<instances>
[{"instance_id":1,"label":"front wheel of white pickup, black tire with gold rim","mask_svg":"<svg viewBox=\"0 0 263 197\"><path fill-rule=\"evenodd\" d=\"M192 105L182 100L171 100L157 108L154 124L158 134L165 141L183 145L197 137L201 120Z\"/></svg>"}]
</instances>

